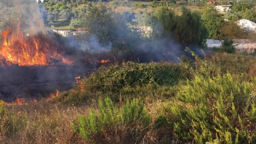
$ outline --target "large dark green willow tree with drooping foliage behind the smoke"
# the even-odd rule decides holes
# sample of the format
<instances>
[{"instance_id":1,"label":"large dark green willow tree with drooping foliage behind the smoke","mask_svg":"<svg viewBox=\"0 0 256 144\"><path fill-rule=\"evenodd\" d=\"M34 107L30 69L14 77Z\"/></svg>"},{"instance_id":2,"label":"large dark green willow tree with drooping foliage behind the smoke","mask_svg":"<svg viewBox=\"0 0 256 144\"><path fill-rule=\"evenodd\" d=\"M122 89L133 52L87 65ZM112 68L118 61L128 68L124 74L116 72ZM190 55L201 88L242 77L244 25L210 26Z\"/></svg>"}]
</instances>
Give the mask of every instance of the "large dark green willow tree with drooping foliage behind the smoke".
<instances>
[{"instance_id":1,"label":"large dark green willow tree with drooping foliage behind the smoke","mask_svg":"<svg viewBox=\"0 0 256 144\"><path fill-rule=\"evenodd\" d=\"M182 8L179 16L171 10L159 10L153 27L153 38L172 37L184 45L202 45L208 32L202 23L200 13Z\"/></svg>"}]
</instances>

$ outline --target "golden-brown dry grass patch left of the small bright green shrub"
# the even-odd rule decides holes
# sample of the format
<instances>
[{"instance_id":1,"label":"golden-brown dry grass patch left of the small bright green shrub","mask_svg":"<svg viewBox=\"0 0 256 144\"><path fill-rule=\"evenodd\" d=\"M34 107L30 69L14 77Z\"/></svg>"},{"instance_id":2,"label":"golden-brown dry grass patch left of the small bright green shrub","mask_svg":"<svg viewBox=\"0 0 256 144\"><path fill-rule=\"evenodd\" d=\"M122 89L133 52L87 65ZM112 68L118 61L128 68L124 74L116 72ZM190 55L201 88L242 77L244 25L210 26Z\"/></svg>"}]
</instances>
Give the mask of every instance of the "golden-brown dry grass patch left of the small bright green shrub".
<instances>
[{"instance_id":1,"label":"golden-brown dry grass patch left of the small bright green shrub","mask_svg":"<svg viewBox=\"0 0 256 144\"><path fill-rule=\"evenodd\" d=\"M78 115L87 114L88 106L66 107L41 100L38 104L8 106L22 119L18 131L1 138L4 144L71 144L85 143L71 128Z\"/></svg>"}]
</instances>

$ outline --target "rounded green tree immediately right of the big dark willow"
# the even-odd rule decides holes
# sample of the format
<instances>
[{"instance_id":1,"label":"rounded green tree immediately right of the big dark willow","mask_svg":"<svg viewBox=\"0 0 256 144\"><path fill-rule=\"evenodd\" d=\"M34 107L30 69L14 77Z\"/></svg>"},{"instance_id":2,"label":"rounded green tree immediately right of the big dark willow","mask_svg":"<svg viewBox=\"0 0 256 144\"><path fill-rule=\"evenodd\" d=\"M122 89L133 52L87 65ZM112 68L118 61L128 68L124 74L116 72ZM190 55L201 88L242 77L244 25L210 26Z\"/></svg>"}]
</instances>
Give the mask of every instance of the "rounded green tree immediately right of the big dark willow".
<instances>
[{"instance_id":1,"label":"rounded green tree immediately right of the big dark willow","mask_svg":"<svg viewBox=\"0 0 256 144\"><path fill-rule=\"evenodd\" d=\"M217 13L217 10L210 6L206 8L202 14L204 26L209 31L208 38L221 39L222 35L219 30L224 24L224 19Z\"/></svg>"}]
</instances>

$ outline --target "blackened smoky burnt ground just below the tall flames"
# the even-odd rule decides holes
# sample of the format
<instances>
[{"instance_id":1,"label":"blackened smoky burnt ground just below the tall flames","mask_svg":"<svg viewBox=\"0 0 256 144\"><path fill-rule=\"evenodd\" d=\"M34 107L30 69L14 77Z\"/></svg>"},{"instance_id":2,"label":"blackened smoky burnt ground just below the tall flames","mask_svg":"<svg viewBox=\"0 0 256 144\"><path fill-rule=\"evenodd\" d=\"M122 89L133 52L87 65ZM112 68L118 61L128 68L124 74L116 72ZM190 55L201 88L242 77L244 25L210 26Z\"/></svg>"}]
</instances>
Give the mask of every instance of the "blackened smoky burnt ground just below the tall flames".
<instances>
[{"instance_id":1,"label":"blackened smoky burnt ground just below the tall flames","mask_svg":"<svg viewBox=\"0 0 256 144\"><path fill-rule=\"evenodd\" d=\"M56 90L71 89L75 77L90 73L92 66L50 65L0 67L0 100L12 101L17 97L48 97Z\"/></svg>"}]
</instances>

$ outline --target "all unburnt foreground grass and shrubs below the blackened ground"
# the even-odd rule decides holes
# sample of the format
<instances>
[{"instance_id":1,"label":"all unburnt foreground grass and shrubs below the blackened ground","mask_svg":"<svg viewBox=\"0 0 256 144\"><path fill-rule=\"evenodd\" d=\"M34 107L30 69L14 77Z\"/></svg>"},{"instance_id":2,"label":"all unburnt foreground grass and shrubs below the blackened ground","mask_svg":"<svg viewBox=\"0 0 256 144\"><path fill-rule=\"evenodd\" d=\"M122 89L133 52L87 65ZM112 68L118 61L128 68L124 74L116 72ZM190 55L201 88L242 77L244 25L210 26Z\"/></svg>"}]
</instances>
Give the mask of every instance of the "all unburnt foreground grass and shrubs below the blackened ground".
<instances>
[{"instance_id":1,"label":"all unburnt foreground grass and shrubs below the blackened ground","mask_svg":"<svg viewBox=\"0 0 256 144\"><path fill-rule=\"evenodd\" d=\"M256 57L191 53L100 67L48 102L1 104L1 141L255 143Z\"/></svg>"}]
</instances>

